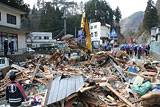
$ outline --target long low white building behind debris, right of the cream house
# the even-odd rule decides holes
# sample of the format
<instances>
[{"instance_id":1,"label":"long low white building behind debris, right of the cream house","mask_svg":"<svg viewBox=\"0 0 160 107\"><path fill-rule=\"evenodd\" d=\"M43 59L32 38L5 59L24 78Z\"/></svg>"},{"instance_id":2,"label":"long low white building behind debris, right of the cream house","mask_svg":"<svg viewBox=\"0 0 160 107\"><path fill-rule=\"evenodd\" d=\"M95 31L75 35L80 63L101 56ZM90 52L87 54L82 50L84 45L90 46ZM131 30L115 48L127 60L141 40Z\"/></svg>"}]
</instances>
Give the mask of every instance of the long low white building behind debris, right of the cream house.
<instances>
[{"instance_id":1,"label":"long low white building behind debris, right of the cream house","mask_svg":"<svg viewBox=\"0 0 160 107\"><path fill-rule=\"evenodd\" d=\"M52 38L52 32L32 32L31 37L27 38L27 47L52 46L56 40Z\"/></svg>"}]
</instances>

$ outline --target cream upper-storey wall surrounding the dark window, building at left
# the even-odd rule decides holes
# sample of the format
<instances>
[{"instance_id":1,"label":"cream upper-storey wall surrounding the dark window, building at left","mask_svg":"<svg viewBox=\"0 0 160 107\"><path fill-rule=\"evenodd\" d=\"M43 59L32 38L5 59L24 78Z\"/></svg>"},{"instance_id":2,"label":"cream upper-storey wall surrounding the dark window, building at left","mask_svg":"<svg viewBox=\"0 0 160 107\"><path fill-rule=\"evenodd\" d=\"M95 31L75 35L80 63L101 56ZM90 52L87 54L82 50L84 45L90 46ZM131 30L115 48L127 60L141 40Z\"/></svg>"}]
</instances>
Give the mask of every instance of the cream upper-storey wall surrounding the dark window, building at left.
<instances>
[{"instance_id":1,"label":"cream upper-storey wall surrounding the dark window, building at left","mask_svg":"<svg viewBox=\"0 0 160 107\"><path fill-rule=\"evenodd\" d=\"M13 28L20 28L21 27L21 20L20 20L20 13L14 11L14 9L8 9L0 5L0 12L1 12L1 21L0 25L13 27ZM7 23L7 14L16 16L16 24L9 24Z\"/></svg>"}]
</instances>

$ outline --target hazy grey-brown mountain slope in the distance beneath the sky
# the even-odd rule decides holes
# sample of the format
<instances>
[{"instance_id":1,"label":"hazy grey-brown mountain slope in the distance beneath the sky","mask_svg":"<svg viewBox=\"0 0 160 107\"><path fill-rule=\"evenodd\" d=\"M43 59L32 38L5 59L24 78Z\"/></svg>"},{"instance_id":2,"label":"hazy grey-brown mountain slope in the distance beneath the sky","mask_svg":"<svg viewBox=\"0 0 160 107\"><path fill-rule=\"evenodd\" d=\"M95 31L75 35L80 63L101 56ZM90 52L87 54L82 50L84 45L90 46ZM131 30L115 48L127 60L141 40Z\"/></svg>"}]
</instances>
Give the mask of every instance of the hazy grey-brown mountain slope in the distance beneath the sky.
<instances>
[{"instance_id":1,"label":"hazy grey-brown mountain slope in the distance beneath the sky","mask_svg":"<svg viewBox=\"0 0 160 107\"><path fill-rule=\"evenodd\" d=\"M144 12L139 11L133 13L131 16L125 19L122 19L120 22L121 33L124 36L127 36L129 35L129 32L130 33L135 32L139 28L139 25L142 23L143 18L144 18Z\"/></svg>"}]
</instances>

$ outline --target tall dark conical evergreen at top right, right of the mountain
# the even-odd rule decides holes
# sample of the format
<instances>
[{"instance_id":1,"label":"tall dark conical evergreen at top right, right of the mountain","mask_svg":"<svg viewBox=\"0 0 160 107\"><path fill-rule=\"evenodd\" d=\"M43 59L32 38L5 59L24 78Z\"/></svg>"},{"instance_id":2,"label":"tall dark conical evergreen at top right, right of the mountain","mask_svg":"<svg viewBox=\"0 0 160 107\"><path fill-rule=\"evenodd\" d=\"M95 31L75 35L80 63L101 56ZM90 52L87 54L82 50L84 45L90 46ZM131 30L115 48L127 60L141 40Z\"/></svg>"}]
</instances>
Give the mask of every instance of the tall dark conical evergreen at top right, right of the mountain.
<instances>
[{"instance_id":1,"label":"tall dark conical evergreen at top right, right of the mountain","mask_svg":"<svg viewBox=\"0 0 160 107\"><path fill-rule=\"evenodd\" d=\"M152 27L155 27L159 22L157 9L152 0L148 0L147 7L143 19L143 27L150 31Z\"/></svg>"}]
</instances>

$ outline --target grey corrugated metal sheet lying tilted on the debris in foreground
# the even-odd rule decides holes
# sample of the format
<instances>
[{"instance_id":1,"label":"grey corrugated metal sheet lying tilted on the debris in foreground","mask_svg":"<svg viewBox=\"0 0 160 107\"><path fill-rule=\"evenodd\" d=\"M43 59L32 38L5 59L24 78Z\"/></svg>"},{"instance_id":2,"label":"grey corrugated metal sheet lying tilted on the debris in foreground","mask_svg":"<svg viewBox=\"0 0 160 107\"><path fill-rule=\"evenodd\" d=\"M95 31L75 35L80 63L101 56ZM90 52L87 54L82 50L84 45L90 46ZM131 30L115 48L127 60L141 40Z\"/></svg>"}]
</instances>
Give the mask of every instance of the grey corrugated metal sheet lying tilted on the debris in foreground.
<instances>
[{"instance_id":1,"label":"grey corrugated metal sheet lying tilted on the debris in foreground","mask_svg":"<svg viewBox=\"0 0 160 107\"><path fill-rule=\"evenodd\" d=\"M73 75L68 78L62 78L62 76L58 76L51 83L47 105L51 105L55 102L63 100L71 94L78 92L79 88L83 86L84 80L82 76Z\"/></svg>"}]
</instances>

